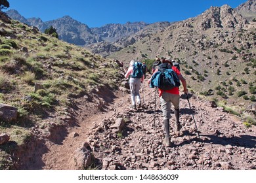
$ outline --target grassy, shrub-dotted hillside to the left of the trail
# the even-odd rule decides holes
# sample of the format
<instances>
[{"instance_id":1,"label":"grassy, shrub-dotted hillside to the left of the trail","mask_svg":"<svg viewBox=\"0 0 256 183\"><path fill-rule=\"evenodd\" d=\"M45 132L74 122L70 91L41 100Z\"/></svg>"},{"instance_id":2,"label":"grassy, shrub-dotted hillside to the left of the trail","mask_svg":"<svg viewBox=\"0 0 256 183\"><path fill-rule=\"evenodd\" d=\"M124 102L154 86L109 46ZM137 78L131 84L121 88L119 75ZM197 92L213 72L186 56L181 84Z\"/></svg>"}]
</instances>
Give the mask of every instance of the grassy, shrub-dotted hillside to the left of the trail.
<instances>
[{"instance_id":1,"label":"grassy, shrub-dotted hillside to the left of the trail","mask_svg":"<svg viewBox=\"0 0 256 183\"><path fill-rule=\"evenodd\" d=\"M18 157L12 155L22 153L39 131L47 137L52 127L67 125L74 98L100 87L114 90L119 74L114 61L4 14L1 19L0 103L18 108L18 118L0 121L0 132L10 137L1 145L0 169L13 169Z\"/></svg>"}]
</instances>

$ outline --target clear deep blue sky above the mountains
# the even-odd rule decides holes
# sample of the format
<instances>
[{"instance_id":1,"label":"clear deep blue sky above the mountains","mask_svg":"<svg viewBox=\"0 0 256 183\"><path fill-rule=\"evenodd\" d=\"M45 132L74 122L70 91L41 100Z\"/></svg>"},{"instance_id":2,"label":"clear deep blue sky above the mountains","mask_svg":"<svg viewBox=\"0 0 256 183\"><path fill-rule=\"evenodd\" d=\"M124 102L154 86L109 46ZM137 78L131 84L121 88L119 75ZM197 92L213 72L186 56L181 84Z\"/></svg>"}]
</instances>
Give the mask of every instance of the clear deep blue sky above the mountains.
<instances>
[{"instance_id":1,"label":"clear deep blue sky above the mountains","mask_svg":"<svg viewBox=\"0 0 256 183\"><path fill-rule=\"evenodd\" d=\"M9 0L10 8L25 18L41 18L43 22L71 16L89 27L126 22L154 23L179 21L198 16L209 7L230 5L247 0Z\"/></svg>"}]
</instances>

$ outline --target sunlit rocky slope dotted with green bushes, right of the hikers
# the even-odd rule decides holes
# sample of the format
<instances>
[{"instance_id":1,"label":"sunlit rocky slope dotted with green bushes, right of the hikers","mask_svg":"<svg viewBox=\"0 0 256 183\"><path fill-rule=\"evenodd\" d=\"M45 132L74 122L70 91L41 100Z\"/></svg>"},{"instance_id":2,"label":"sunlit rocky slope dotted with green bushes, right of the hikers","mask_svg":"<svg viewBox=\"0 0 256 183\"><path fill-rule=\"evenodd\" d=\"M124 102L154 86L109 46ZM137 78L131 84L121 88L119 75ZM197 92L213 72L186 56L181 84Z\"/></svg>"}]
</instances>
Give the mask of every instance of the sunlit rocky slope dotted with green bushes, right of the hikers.
<instances>
[{"instance_id":1,"label":"sunlit rocky slope dotted with green bushes, right of the hikers","mask_svg":"<svg viewBox=\"0 0 256 183\"><path fill-rule=\"evenodd\" d=\"M189 90L242 112L255 102L255 23L228 5L211 7L161 31L140 31L130 37L132 45L108 58L126 64L136 58L176 59Z\"/></svg>"}]
</instances>

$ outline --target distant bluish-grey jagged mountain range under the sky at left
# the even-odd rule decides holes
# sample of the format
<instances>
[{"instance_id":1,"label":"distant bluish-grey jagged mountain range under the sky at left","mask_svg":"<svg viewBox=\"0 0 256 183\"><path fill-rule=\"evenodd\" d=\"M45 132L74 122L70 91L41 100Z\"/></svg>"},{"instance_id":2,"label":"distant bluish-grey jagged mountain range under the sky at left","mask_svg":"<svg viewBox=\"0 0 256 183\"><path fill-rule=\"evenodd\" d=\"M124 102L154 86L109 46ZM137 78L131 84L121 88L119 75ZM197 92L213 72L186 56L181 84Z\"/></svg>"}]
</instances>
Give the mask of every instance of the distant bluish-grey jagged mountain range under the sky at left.
<instances>
[{"instance_id":1,"label":"distant bluish-grey jagged mountain range under the sky at left","mask_svg":"<svg viewBox=\"0 0 256 183\"><path fill-rule=\"evenodd\" d=\"M145 22L127 22L123 25L107 24L102 27L90 28L70 16L43 22L40 18L24 18L17 10L8 10L6 13L14 20L37 27L41 32L53 26L58 32L59 39L80 46L104 41L114 42L136 33L148 25Z\"/></svg>"}]
</instances>

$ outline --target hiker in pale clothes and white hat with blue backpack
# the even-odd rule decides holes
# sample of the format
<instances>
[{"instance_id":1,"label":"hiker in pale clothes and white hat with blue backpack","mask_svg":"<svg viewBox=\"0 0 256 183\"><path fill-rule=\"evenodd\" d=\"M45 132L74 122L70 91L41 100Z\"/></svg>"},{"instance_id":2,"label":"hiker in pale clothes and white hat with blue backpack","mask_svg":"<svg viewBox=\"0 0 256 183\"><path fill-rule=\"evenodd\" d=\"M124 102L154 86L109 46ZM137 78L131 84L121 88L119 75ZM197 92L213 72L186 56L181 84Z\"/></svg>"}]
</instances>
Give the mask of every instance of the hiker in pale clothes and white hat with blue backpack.
<instances>
[{"instance_id":1,"label":"hiker in pale clothes and white hat with blue backpack","mask_svg":"<svg viewBox=\"0 0 256 183\"><path fill-rule=\"evenodd\" d=\"M140 108L140 85L144 80L142 63L131 60L130 67L128 68L127 73L125 73L125 78L129 78L129 86L131 90L131 108L136 109L137 105L138 108Z\"/></svg>"}]
</instances>

